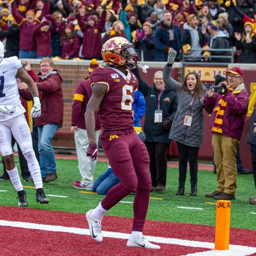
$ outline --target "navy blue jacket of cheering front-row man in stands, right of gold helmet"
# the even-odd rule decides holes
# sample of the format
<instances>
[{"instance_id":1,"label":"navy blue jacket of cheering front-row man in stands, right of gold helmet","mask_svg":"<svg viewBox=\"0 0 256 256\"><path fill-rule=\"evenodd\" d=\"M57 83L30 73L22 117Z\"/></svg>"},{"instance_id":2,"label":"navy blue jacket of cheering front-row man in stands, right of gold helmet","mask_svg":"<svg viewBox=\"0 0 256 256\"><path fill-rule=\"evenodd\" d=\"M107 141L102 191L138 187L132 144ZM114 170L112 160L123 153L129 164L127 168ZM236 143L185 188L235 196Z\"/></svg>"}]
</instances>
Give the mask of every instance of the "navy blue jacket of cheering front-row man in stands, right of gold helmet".
<instances>
[{"instance_id":1,"label":"navy blue jacket of cheering front-row man in stands, right of gold helmet","mask_svg":"<svg viewBox=\"0 0 256 256\"><path fill-rule=\"evenodd\" d=\"M174 40L169 40L169 30L173 29ZM161 27L156 29L155 33L155 58L154 61L167 61L169 47L177 52L180 50L180 27L171 25L167 27L161 21Z\"/></svg>"}]
</instances>

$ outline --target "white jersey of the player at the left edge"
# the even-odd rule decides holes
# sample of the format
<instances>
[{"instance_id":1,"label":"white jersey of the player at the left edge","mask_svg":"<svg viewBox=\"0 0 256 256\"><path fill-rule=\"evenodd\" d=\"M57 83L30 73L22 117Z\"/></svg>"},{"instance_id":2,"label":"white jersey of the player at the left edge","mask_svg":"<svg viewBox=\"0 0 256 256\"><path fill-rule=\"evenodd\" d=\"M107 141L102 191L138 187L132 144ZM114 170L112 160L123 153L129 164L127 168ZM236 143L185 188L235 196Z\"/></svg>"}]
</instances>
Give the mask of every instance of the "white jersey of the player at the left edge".
<instances>
[{"instance_id":1,"label":"white jersey of the player at the left edge","mask_svg":"<svg viewBox=\"0 0 256 256\"><path fill-rule=\"evenodd\" d=\"M22 63L18 57L0 58L0 105L15 106L15 112L12 115L0 113L0 122L26 111L21 105L16 78L17 70L21 67Z\"/></svg>"}]
</instances>

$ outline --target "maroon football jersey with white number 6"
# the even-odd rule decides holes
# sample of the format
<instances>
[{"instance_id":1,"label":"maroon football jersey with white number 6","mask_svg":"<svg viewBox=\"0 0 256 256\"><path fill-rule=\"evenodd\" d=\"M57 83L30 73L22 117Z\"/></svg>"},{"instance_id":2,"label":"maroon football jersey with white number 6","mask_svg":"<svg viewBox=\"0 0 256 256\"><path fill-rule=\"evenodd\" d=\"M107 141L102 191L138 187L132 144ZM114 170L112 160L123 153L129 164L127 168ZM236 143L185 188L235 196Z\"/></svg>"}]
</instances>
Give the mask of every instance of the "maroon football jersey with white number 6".
<instances>
[{"instance_id":1,"label":"maroon football jersey with white number 6","mask_svg":"<svg viewBox=\"0 0 256 256\"><path fill-rule=\"evenodd\" d=\"M138 88L138 79L130 72L122 73L118 69L99 67L90 75L91 86L106 84L108 91L101 101L98 116L101 122L100 138L113 134L125 134L133 131L132 103L134 91Z\"/></svg>"}]
</instances>

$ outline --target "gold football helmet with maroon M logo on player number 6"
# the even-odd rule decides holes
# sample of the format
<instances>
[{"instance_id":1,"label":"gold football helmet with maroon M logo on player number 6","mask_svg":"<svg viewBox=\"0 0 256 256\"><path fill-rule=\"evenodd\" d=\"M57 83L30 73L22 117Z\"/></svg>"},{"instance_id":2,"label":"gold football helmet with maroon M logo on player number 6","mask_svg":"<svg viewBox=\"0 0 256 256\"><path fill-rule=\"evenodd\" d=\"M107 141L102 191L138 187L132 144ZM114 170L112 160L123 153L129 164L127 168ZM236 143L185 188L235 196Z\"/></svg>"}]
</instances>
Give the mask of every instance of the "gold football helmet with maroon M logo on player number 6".
<instances>
[{"instance_id":1,"label":"gold football helmet with maroon M logo on player number 6","mask_svg":"<svg viewBox=\"0 0 256 256\"><path fill-rule=\"evenodd\" d=\"M102 46L101 55L107 65L133 67L140 61L134 45L124 37L113 37Z\"/></svg>"}]
</instances>

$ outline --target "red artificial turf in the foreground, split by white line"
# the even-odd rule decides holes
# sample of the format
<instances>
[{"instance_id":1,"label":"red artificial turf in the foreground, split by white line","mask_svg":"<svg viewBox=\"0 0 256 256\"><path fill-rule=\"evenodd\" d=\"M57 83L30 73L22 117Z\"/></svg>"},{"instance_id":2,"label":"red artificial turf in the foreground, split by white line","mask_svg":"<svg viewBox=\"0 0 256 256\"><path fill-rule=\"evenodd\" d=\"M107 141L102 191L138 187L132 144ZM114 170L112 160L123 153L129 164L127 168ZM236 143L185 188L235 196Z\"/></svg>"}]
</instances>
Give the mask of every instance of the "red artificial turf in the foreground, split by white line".
<instances>
[{"instance_id":1,"label":"red artificial turf in the foreground, split by white line","mask_svg":"<svg viewBox=\"0 0 256 256\"><path fill-rule=\"evenodd\" d=\"M0 206L0 219L45 225L88 228L85 214L82 213ZM102 230L104 231L130 234L131 227L132 219L130 218L105 216L102 221ZM126 239L103 237L103 242L97 243L88 235L3 226L0 226L0 230L1 255L180 256L209 250L172 244L161 244L161 250L147 250L127 247ZM144 234L146 236L160 236L214 243L215 227L147 220ZM255 247L253 237L256 237L256 230L230 229L230 244Z\"/></svg>"}]
</instances>

